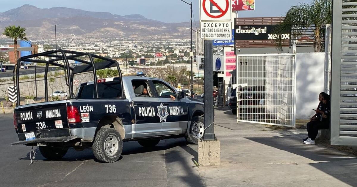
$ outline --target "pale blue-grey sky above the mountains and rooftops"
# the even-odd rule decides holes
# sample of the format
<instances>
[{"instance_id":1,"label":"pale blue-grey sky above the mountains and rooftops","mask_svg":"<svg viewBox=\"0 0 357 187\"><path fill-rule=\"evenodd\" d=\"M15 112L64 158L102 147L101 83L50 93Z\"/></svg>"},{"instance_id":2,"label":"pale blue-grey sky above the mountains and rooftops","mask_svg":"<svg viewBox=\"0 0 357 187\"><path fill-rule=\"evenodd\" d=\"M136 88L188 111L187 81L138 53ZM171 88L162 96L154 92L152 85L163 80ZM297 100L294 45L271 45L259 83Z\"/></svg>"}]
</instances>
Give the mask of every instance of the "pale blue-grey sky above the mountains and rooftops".
<instances>
[{"instance_id":1,"label":"pale blue-grey sky above the mountains and rooftops","mask_svg":"<svg viewBox=\"0 0 357 187\"><path fill-rule=\"evenodd\" d=\"M87 11L110 12L118 15L141 14L167 23L190 21L190 6L181 0L0 0L0 12L24 4L39 8L68 7ZM191 0L185 0L190 2ZM198 4L192 0L195 20L199 20ZM312 0L256 0L254 11L240 11L239 17L281 16L293 5Z\"/></svg>"}]
</instances>

